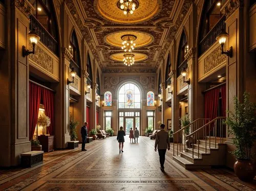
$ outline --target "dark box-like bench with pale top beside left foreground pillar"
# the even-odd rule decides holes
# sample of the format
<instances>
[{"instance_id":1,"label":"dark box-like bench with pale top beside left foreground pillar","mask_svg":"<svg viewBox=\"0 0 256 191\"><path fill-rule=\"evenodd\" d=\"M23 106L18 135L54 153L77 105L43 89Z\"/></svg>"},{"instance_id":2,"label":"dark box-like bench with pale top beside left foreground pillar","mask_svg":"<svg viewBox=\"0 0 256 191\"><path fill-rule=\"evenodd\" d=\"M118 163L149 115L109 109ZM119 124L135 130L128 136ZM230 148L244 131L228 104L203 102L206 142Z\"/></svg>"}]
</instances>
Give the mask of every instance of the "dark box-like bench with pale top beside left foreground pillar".
<instances>
[{"instance_id":1,"label":"dark box-like bench with pale top beside left foreground pillar","mask_svg":"<svg viewBox=\"0 0 256 191\"><path fill-rule=\"evenodd\" d=\"M42 160L44 159L44 151L30 151L22 153L20 156L22 157L23 167L33 167L42 163Z\"/></svg>"}]
</instances>

